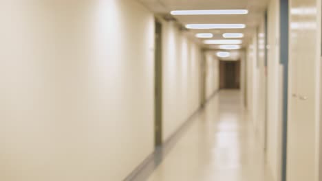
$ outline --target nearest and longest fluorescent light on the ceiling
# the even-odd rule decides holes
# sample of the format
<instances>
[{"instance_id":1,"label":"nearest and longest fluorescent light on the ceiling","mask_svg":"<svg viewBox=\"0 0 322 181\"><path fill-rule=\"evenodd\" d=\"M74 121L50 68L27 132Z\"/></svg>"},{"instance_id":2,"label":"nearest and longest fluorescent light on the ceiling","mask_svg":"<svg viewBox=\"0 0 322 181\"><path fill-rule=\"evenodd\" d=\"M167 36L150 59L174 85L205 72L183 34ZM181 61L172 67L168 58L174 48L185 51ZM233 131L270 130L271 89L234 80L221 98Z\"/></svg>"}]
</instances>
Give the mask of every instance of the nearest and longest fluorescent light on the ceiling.
<instances>
[{"instance_id":1,"label":"nearest and longest fluorescent light on the ceiling","mask_svg":"<svg viewBox=\"0 0 322 181\"><path fill-rule=\"evenodd\" d=\"M178 10L171 11L172 15L221 15L248 14L248 10Z\"/></svg>"}]
</instances>

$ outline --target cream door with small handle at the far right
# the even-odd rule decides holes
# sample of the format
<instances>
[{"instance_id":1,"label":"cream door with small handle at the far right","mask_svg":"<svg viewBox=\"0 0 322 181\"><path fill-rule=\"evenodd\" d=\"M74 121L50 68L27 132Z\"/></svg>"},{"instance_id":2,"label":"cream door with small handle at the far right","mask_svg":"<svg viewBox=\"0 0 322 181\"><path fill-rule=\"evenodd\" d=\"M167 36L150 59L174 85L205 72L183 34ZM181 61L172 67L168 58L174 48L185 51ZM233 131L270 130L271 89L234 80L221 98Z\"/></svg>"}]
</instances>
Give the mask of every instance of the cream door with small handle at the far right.
<instances>
[{"instance_id":1,"label":"cream door with small handle at the far right","mask_svg":"<svg viewBox=\"0 0 322 181\"><path fill-rule=\"evenodd\" d=\"M290 9L316 8L316 0L290 1ZM319 8L321 9L321 8ZM287 180L318 180L319 167L319 28L318 14L290 14L290 97L288 118Z\"/></svg>"}]
</instances>

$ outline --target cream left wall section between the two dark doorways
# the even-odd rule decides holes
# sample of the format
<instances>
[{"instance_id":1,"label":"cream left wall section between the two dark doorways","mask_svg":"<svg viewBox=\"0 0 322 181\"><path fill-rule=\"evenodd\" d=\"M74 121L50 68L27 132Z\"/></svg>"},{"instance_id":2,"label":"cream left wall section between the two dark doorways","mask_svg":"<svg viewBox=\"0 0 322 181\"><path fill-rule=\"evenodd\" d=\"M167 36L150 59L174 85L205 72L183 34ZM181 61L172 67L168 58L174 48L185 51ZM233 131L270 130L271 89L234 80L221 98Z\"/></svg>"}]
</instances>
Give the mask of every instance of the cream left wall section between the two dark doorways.
<instances>
[{"instance_id":1,"label":"cream left wall section between the two dark doorways","mask_svg":"<svg viewBox=\"0 0 322 181\"><path fill-rule=\"evenodd\" d=\"M175 22L163 22L163 140L200 107L200 47Z\"/></svg>"}]
</instances>

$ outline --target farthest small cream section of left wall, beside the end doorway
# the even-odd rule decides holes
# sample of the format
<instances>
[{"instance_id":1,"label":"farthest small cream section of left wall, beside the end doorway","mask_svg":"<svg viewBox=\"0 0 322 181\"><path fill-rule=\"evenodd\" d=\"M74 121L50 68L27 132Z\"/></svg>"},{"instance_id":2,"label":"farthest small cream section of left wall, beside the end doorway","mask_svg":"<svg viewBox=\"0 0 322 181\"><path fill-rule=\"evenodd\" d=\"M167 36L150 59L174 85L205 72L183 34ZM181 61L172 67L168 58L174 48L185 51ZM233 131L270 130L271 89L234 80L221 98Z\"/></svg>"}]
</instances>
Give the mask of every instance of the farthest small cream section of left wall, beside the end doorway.
<instances>
[{"instance_id":1,"label":"farthest small cream section of left wall, beside the end doorway","mask_svg":"<svg viewBox=\"0 0 322 181\"><path fill-rule=\"evenodd\" d=\"M214 51L206 52L206 99L219 90L219 60Z\"/></svg>"}]
</instances>

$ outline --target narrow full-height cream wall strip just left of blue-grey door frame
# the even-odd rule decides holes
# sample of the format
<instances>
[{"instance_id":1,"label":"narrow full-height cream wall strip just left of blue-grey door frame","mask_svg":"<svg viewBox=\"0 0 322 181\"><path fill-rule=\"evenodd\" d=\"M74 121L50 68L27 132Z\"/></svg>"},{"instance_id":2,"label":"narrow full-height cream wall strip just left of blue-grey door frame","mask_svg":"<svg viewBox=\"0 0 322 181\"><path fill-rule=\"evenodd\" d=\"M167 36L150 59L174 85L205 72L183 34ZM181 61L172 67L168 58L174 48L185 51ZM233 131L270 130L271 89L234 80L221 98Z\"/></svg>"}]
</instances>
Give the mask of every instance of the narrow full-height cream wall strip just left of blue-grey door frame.
<instances>
[{"instance_id":1,"label":"narrow full-height cream wall strip just left of blue-grey door frame","mask_svg":"<svg viewBox=\"0 0 322 181\"><path fill-rule=\"evenodd\" d=\"M281 180L281 71L279 60L279 1L268 5L267 160L274 180Z\"/></svg>"}]
</instances>

